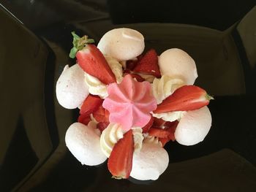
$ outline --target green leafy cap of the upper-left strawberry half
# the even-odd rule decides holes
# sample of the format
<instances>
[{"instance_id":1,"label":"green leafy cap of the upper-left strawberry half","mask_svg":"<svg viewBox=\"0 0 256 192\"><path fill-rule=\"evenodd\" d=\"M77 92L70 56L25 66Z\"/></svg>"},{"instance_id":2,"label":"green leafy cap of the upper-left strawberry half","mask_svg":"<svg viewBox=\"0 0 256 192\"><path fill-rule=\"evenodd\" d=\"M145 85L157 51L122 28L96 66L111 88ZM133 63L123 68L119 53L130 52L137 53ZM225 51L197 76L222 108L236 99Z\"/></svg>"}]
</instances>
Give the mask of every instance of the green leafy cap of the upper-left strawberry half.
<instances>
[{"instance_id":1,"label":"green leafy cap of the upper-left strawberry half","mask_svg":"<svg viewBox=\"0 0 256 192\"><path fill-rule=\"evenodd\" d=\"M89 43L94 43L94 39L88 39L88 36L83 36L79 37L77 34L75 34L75 31L72 31L72 36L73 36L73 46L72 49L70 50L69 57L70 58L75 58L76 53L78 50L82 50L83 47L86 47L87 44Z\"/></svg>"}]
</instances>

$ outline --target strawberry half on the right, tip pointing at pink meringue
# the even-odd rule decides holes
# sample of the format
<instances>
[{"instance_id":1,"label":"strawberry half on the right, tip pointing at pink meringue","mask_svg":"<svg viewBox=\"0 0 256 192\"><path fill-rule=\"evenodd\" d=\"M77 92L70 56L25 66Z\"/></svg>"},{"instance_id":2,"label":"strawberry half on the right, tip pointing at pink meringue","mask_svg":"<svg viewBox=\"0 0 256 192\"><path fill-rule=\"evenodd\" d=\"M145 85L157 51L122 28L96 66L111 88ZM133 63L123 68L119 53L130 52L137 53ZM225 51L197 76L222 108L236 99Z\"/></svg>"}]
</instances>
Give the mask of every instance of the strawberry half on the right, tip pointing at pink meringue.
<instances>
[{"instance_id":1,"label":"strawberry half on the right, tip pointing at pink meringue","mask_svg":"<svg viewBox=\"0 0 256 192\"><path fill-rule=\"evenodd\" d=\"M154 113L197 110L208 105L211 99L214 98L202 88L195 85L184 85L162 101Z\"/></svg>"}]
</instances>

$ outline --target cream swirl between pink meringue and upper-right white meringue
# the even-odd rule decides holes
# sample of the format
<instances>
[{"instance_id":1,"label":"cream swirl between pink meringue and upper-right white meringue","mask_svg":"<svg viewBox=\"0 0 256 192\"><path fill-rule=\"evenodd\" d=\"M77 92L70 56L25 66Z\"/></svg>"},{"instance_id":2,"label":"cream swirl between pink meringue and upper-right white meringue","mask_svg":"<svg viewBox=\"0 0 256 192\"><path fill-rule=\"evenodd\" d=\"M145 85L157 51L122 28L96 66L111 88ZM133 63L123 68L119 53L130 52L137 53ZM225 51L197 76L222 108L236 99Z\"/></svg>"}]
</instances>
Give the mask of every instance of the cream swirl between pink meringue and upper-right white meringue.
<instances>
[{"instance_id":1,"label":"cream swirl between pink meringue and upper-right white meringue","mask_svg":"<svg viewBox=\"0 0 256 192\"><path fill-rule=\"evenodd\" d=\"M157 104L170 96L177 88L184 85L184 81L167 75L162 75L161 79L155 78L152 85L153 95L157 99Z\"/></svg>"}]
</instances>

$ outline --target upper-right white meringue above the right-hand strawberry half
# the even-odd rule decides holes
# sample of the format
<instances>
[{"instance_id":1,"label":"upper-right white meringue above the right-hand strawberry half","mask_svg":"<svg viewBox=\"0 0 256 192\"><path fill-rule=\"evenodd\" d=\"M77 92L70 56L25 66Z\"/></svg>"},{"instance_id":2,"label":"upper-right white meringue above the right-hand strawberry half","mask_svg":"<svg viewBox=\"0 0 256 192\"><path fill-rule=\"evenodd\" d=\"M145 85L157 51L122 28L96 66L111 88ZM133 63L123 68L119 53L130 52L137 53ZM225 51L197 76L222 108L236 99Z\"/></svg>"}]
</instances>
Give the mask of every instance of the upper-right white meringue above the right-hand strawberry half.
<instances>
[{"instance_id":1,"label":"upper-right white meringue above the right-hand strawberry half","mask_svg":"<svg viewBox=\"0 0 256 192\"><path fill-rule=\"evenodd\" d=\"M162 75L181 78L187 85L193 85L198 77L195 61L184 50L177 48L165 50L159 56L158 64Z\"/></svg>"}]
</instances>

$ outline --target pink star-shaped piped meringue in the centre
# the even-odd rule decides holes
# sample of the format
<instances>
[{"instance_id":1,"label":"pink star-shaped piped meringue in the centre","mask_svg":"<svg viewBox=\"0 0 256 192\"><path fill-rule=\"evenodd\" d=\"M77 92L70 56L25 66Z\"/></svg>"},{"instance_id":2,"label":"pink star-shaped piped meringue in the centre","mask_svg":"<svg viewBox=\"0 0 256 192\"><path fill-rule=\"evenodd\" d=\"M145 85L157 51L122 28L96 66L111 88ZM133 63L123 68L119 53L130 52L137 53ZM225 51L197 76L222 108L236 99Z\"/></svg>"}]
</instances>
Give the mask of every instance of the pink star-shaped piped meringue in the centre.
<instances>
[{"instance_id":1,"label":"pink star-shaped piped meringue in the centre","mask_svg":"<svg viewBox=\"0 0 256 192\"><path fill-rule=\"evenodd\" d=\"M108 85L108 97L102 105L110 112L110 123L120 123L125 131L134 126L146 126L149 112L157 109L157 100L149 82L137 82L126 75L120 84Z\"/></svg>"}]
</instances>

